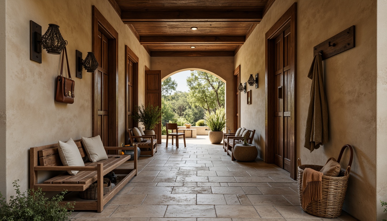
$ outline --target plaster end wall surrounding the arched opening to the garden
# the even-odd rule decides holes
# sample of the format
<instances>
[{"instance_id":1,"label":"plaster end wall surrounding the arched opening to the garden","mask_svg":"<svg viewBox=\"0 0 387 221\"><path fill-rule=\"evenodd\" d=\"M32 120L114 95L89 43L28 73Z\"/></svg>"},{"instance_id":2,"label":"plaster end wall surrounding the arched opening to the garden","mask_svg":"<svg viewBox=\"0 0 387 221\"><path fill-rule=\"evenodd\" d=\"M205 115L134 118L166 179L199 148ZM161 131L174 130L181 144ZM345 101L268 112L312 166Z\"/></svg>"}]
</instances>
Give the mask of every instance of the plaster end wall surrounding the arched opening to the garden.
<instances>
[{"instance_id":1,"label":"plaster end wall surrounding the arched opening to the garden","mask_svg":"<svg viewBox=\"0 0 387 221\"><path fill-rule=\"evenodd\" d=\"M226 82L227 126L233 128L234 57L151 57L152 70L161 70L164 79L183 70L202 70Z\"/></svg>"}]
</instances>

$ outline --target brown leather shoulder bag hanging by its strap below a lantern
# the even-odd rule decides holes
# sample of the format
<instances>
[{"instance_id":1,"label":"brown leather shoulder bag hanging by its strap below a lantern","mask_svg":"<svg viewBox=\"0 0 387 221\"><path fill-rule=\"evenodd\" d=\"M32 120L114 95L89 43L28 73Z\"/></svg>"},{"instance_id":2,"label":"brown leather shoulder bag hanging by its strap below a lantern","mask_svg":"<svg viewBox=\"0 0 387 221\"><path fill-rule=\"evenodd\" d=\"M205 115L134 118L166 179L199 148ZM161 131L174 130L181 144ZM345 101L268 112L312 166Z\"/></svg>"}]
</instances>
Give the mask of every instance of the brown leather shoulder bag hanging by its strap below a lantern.
<instances>
[{"instance_id":1,"label":"brown leather shoulder bag hanging by its strap below a lantern","mask_svg":"<svg viewBox=\"0 0 387 221\"><path fill-rule=\"evenodd\" d=\"M74 86L75 82L71 80L70 67L68 66L67 50L66 47L62 52L62 63L60 64L60 75L57 77L57 93L55 95L55 101L60 103L72 104L74 103ZM63 77L63 60L66 55L67 73L68 78Z\"/></svg>"}]
</instances>

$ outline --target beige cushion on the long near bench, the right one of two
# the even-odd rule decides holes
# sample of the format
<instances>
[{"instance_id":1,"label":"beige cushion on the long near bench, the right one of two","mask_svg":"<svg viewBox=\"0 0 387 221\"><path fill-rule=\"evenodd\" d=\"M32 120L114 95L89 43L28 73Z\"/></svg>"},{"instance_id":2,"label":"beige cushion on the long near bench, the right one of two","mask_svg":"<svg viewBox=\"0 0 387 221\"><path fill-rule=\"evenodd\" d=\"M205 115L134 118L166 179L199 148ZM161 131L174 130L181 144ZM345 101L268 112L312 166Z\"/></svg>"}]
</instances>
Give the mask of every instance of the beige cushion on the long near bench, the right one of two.
<instances>
[{"instance_id":1,"label":"beige cushion on the long near bench, the right one of two","mask_svg":"<svg viewBox=\"0 0 387 221\"><path fill-rule=\"evenodd\" d=\"M91 162L97 162L103 159L108 159L101 137L82 137L82 143L85 147L87 157Z\"/></svg>"}]
</instances>

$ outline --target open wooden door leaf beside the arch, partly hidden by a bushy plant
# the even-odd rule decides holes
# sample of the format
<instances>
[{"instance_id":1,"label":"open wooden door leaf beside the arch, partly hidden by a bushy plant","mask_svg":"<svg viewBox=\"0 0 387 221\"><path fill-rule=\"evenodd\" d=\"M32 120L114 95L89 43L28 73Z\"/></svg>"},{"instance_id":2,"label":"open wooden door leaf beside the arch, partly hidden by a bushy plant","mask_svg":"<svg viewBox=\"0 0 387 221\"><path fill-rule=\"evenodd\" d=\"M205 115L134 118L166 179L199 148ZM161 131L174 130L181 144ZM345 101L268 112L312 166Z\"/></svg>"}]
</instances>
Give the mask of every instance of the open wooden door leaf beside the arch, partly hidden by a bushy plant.
<instances>
[{"instance_id":1,"label":"open wooden door leaf beside the arch, partly hidden by a bushy plant","mask_svg":"<svg viewBox=\"0 0 387 221\"><path fill-rule=\"evenodd\" d=\"M161 108L161 70L145 71L145 106L151 104ZM154 128L157 143L161 144L161 120Z\"/></svg>"}]
</instances>

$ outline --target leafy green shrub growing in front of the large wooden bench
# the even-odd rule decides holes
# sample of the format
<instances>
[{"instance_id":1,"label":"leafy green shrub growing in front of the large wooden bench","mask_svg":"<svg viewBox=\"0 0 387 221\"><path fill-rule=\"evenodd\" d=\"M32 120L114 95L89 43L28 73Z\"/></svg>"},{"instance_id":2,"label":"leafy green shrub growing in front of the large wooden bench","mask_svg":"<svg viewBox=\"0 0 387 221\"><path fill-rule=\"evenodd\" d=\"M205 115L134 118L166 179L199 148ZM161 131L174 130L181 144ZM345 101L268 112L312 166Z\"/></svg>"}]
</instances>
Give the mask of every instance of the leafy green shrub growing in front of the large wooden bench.
<instances>
[{"instance_id":1,"label":"leafy green shrub growing in front of the large wooden bench","mask_svg":"<svg viewBox=\"0 0 387 221\"><path fill-rule=\"evenodd\" d=\"M71 214L67 209L73 209L74 204L60 205L66 192L62 192L51 199L38 190L27 189L21 193L20 185L15 180L16 196L11 196L9 202L0 193L0 220L2 221L69 221Z\"/></svg>"}]
</instances>

